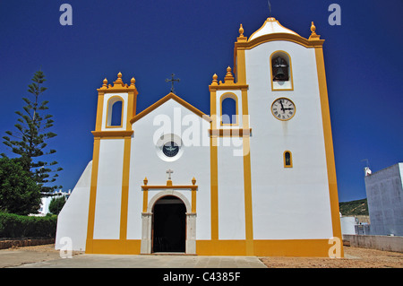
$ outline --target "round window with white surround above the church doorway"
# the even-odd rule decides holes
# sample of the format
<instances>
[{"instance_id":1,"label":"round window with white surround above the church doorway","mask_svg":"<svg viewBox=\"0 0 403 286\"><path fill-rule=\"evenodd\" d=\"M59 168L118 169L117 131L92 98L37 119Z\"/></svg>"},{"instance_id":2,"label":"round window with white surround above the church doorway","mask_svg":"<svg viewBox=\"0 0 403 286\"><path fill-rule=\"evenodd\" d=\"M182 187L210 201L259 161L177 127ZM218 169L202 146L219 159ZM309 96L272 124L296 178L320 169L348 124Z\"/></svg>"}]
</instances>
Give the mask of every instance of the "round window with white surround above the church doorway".
<instances>
[{"instance_id":1,"label":"round window with white surround above the church doorway","mask_svg":"<svg viewBox=\"0 0 403 286\"><path fill-rule=\"evenodd\" d=\"M164 134L156 143L157 155L161 160L178 160L184 152L181 138L176 134Z\"/></svg>"}]
</instances>

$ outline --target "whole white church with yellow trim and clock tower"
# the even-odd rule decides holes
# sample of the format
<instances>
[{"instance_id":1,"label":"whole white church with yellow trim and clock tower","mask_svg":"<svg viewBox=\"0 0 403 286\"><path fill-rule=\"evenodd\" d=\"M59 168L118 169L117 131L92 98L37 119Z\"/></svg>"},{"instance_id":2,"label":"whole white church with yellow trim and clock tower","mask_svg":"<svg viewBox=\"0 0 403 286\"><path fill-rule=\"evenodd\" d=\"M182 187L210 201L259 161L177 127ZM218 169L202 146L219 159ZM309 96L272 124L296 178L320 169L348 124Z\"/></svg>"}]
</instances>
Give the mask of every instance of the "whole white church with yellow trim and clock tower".
<instances>
[{"instance_id":1,"label":"whole white church with yellow trim and clock tower","mask_svg":"<svg viewBox=\"0 0 403 286\"><path fill-rule=\"evenodd\" d=\"M247 38L241 24L210 115L174 89L138 112L141 82L105 79L56 249L69 238L87 254L329 256L341 230L315 30L305 39L270 17Z\"/></svg>"}]
</instances>

